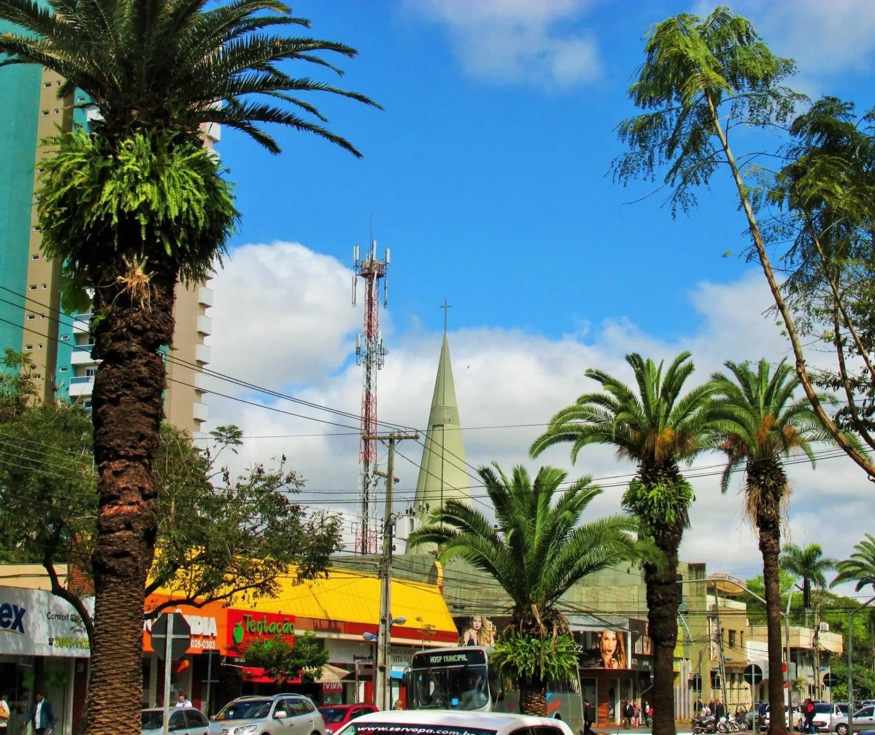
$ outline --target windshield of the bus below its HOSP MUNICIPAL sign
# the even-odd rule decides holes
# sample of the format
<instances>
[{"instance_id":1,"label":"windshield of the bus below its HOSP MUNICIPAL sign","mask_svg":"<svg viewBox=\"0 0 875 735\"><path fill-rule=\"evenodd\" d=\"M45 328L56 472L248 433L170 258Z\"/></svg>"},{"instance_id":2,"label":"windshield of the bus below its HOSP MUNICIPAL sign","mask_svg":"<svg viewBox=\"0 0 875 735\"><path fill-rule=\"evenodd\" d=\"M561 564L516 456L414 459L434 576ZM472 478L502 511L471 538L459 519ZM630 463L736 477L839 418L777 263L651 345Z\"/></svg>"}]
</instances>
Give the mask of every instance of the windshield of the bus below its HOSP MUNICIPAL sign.
<instances>
[{"instance_id":1,"label":"windshield of the bus below its HOSP MUNICIPAL sign","mask_svg":"<svg viewBox=\"0 0 875 735\"><path fill-rule=\"evenodd\" d=\"M489 704L485 666L411 669L411 710L481 710Z\"/></svg>"}]
</instances>

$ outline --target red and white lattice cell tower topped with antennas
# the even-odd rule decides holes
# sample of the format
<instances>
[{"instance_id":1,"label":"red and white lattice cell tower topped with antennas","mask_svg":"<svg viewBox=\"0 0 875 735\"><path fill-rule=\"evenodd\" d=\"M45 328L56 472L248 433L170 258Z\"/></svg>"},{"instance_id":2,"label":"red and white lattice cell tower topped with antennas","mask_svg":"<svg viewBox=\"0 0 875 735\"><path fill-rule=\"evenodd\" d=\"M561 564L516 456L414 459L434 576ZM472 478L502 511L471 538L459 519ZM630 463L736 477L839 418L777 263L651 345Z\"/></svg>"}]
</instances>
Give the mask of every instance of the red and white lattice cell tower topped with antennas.
<instances>
[{"instance_id":1,"label":"red and white lattice cell tower topped with antennas","mask_svg":"<svg viewBox=\"0 0 875 735\"><path fill-rule=\"evenodd\" d=\"M383 260L377 258L377 242L370 238L367 254L359 256L359 246L353 247L353 306L359 278L364 281L364 332L355 335L355 364L364 366L361 391L361 437L359 446L360 519L355 532L355 550L359 554L375 554L379 529L376 521L377 444L371 437L377 433L377 370L386 360L386 349L380 333L380 280L383 282L382 306L388 304L388 248Z\"/></svg>"}]
</instances>

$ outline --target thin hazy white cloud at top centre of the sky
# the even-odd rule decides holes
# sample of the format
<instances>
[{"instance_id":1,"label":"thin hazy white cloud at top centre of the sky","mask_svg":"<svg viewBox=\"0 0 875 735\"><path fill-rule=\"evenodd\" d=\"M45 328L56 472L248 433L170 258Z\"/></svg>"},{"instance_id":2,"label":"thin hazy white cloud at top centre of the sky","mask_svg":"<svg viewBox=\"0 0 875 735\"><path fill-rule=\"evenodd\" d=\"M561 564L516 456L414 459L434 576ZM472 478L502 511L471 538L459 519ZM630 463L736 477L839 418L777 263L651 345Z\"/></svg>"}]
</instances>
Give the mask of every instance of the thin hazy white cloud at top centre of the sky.
<instances>
[{"instance_id":1,"label":"thin hazy white cloud at top centre of the sky","mask_svg":"<svg viewBox=\"0 0 875 735\"><path fill-rule=\"evenodd\" d=\"M500 83L569 87L600 73L598 45L572 28L585 0L406 0L444 25L465 72Z\"/></svg>"}]
</instances>

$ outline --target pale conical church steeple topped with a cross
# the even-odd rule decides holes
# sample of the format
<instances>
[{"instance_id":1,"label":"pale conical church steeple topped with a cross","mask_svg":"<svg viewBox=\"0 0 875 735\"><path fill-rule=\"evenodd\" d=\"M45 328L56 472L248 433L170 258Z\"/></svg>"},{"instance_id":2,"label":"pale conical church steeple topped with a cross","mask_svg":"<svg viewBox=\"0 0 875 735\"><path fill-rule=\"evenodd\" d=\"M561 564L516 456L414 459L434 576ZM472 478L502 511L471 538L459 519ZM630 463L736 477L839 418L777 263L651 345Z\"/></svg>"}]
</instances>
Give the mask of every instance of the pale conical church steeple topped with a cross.
<instances>
[{"instance_id":1,"label":"pale conical church steeple topped with a cross","mask_svg":"<svg viewBox=\"0 0 875 735\"><path fill-rule=\"evenodd\" d=\"M462 442L462 424L458 417L456 386L452 380L450 342L447 337L447 310L444 310L444 343L437 363L435 391L431 397L429 424L425 434L423 459L416 481L415 507L440 507L446 500L470 500L471 479L465 465L465 444Z\"/></svg>"}]
</instances>

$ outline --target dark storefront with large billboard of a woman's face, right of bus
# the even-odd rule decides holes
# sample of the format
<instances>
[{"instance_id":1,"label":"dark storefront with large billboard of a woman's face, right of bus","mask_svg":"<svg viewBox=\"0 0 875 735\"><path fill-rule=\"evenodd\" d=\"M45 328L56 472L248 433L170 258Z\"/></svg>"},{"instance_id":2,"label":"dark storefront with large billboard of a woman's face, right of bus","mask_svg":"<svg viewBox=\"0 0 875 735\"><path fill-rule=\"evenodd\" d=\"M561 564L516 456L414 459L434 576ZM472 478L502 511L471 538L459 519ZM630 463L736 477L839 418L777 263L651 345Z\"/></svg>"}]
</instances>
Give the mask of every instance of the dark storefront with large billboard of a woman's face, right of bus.
<instances>
[{"instance_id":1,"label":"dark storefront with large billboard of a woman's face, right of bus","mask_svg":"<svg viewBox=\"0 0 875 735\"><path fill-rule=\"evenodd\" d=\"M571 615L577 642L580 693L596 706L597 725L619 725L627 701L648 700L653 651L645 620Z\"/></svg>"}]
</instances>

